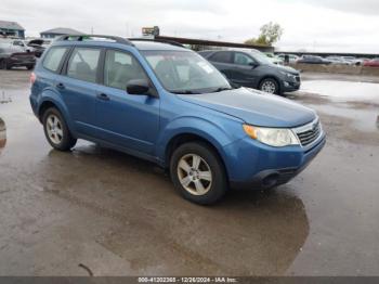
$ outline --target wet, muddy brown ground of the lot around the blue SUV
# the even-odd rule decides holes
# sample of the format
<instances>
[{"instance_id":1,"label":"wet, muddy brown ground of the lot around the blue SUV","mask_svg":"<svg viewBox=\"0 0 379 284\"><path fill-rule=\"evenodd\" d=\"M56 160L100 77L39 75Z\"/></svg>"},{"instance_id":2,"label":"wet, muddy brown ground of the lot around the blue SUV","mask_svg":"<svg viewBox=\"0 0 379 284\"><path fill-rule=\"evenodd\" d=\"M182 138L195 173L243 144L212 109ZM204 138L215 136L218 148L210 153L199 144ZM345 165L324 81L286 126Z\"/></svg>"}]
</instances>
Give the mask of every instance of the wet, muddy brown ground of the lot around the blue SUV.
<instances>
[{"instance_id":1,"label":"wet, muddy brown ground of the lot around the blue SUV","mask_svg":"<svg viewBox=\"0 0 379 284\"><path fill-rule=\"evenodd\" d=\"M0 70L0 275L379 275L379 85L306 75L289 98L319 112L319 156L200 207L149 163L51 150L28 75Z\"/></svg>"}]
</instances>

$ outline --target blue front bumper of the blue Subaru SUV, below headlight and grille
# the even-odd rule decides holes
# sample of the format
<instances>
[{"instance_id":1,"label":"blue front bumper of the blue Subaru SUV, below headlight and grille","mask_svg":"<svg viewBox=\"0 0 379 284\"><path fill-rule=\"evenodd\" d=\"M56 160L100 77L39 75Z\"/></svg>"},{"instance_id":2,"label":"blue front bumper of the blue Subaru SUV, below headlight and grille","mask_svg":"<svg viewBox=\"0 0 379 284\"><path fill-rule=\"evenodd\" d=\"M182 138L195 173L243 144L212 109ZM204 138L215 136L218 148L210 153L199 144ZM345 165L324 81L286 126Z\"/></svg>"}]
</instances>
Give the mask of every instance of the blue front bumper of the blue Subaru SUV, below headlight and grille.
<instances>
[{"instance_id":1,"label":"blue front bumper of the blue Subaru SUV, below headlight and grille","mask_svg":"<svg viewBox=\"0 0 379 284\"><path fill-rule=\"evenodd\" d=\"M275 149L250 138L228 145L226 162L232 189L267 189L285 184L304 170L326 143L323 133L312 145ZM237 147L240 147L237 150Z\"/></svg>"}]
</instances>

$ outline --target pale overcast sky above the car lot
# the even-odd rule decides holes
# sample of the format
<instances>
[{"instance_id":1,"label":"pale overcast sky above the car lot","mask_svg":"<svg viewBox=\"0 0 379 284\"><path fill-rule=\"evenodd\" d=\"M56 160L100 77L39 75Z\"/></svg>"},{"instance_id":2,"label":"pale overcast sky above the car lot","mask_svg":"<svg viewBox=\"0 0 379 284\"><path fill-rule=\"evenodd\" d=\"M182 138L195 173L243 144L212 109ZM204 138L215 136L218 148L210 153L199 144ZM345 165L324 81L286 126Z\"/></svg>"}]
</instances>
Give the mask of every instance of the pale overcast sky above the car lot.
<instances>
[{"instance_id":1,"label":"pale overcast sky above the car lot","mask_svg":"<svg viewBox=\"0 0 379 284\"><path fill-rule=\"evenodd\" d=\"M18 22L26 36L70 27L140 37L157 25L164 36L234 42L275 22L279 50L379 53L378 0L1 0L0 20Z\"/></svg>"}]
</instances>

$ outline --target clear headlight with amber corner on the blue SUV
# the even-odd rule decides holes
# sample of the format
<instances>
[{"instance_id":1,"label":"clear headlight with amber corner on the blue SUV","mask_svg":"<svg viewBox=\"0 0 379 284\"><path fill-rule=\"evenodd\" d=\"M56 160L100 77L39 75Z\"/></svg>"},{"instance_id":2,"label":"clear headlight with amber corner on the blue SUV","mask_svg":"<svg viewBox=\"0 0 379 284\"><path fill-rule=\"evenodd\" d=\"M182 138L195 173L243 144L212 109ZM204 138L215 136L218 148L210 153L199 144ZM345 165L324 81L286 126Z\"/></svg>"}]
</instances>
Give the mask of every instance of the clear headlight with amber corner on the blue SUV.
<instances>
[{"instance_id":1,"label":"clear headlight with amber corner on the blue SUV","mask_svg":"<svg viewBox=\"0 0 379 284\"><path fill-rule=\"evenodd\" d=\"M244 125L245 132L252 139L274 147L299 145L299 140L290 129L265 128Z\"/></svg>"}]
</instances>

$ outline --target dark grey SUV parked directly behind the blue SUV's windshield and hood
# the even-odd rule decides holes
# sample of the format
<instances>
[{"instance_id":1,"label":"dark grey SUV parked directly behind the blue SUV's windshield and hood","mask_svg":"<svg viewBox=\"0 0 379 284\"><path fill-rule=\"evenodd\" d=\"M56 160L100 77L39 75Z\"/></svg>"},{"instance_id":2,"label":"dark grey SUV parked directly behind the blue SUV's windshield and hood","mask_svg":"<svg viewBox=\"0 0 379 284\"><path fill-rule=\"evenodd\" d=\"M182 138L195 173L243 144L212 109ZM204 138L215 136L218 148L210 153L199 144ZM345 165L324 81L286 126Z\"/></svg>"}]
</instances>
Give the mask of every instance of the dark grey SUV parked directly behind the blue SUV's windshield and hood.
<instances>
[{"instance_id":1,"label":"dark grey SUV parked directly behind the blue SUV's windshield and hood","mask_svg":"<svg viewBox=\"0 0 379 284\"><path fill-rule=\"evenodd\" d=\"M300 88L300 73L275 65L259 51L200 51L234 86L282 94Z\"/></svg>"}]
</instances>

